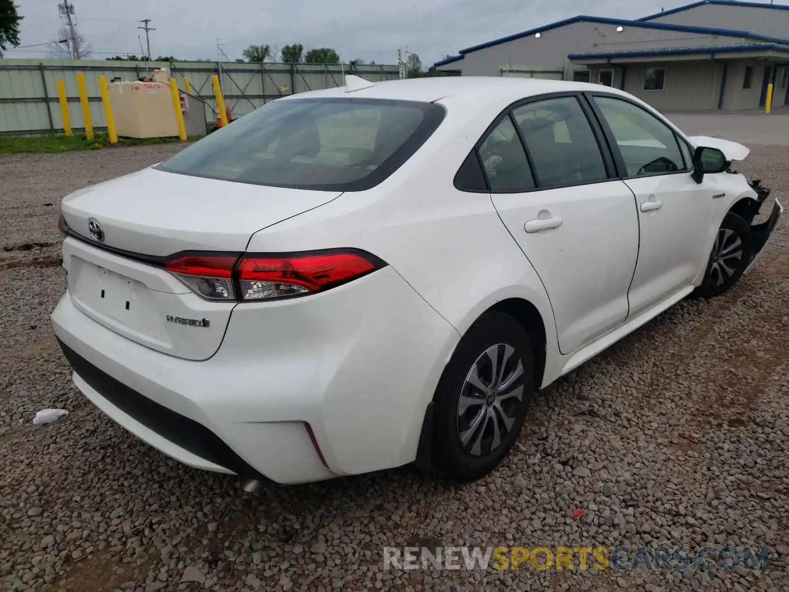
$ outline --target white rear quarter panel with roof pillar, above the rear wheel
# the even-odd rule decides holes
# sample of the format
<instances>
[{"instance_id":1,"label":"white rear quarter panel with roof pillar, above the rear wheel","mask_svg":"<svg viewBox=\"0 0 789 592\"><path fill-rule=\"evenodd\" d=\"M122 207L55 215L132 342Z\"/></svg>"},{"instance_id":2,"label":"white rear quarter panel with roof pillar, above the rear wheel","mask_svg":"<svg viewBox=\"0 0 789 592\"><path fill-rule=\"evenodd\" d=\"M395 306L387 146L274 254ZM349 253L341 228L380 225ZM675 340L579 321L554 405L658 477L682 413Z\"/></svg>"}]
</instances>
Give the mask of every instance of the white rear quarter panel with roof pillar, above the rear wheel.
<instances>
[{"instance_id":1,"label":"white rear quarter panel with roof pillar, above the rear wheel","mask_svg":"<svg viewBox=\"0 0 789 592\"><path fill-rule=\"evenodd\" d=\"M474 109L445 99L447 116L436 133L385 182L260 230L248 250L365 249L387 261L461 335L496 302L525 298L543 318L546 347L555 346L548 295L489 194L453 186L473 144L514 99Z\"/></svg>"}]
</instances>

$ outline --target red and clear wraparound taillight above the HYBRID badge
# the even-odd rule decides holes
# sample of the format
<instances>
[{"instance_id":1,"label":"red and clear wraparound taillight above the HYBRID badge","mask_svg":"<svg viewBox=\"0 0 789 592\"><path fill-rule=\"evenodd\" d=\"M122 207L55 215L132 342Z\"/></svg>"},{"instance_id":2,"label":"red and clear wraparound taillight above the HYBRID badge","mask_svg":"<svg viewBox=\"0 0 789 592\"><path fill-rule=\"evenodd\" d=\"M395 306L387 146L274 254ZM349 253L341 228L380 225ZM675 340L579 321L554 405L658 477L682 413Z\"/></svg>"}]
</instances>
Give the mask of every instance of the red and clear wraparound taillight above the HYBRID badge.
<instances>
[{"instance_id":1,"label":"red and clear wraparound taillight above the HYBRID badge","mask_svg":"<svg viewBox=\"0 0 789 592\"><path fill-rule=\"evenodd\" d=\"M240 258L236 254L185 255L170 260L165 268L203 298L260 301L327 290L383 265L368 253L332 251L287 256L249 253Z\"/></svg>"}]
</instances>

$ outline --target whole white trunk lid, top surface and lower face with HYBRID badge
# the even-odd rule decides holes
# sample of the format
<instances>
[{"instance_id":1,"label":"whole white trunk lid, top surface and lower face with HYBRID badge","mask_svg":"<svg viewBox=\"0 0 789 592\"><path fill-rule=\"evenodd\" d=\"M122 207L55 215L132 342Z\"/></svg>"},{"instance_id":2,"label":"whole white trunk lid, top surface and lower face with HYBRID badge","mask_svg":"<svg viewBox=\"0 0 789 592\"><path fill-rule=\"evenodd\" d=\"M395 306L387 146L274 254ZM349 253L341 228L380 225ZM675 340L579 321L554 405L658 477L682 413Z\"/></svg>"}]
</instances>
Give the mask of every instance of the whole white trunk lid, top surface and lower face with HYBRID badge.
<instances>
[{"instance_id":1,"label":"whole white trunk lid, top surface and lower face with HYBRID badge","mask_svg":"<svg viewBox=\"0 0 789 592\"><path fill-rule=\"evenodd\" d=\"M242 252L257 230L338 195L153 169L82 189L61 208L65 223L84 237L63 245L69 295L88 317L136 343L178 358L210 358L236 303L204 300L163 268L102 247L153 257ZM100 223L103 242L92 238L90 219Z\"/></svg>"}]
</instances>

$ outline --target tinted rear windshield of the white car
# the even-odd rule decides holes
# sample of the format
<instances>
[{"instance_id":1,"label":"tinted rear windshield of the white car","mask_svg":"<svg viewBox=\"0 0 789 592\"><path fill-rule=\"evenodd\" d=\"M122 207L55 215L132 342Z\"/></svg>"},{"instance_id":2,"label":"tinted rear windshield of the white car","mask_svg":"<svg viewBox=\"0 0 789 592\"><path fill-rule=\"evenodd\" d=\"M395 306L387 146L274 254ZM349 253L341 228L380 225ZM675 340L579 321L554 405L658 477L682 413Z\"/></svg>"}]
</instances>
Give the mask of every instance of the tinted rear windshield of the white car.
<instances>
[{"instance_id":1,"label":"tinted rear windshield of the white car","mask_svg":"<svg viewBox=\"0 0 789 592\"><path fill-rule=\"evenodd\" d=\"M443 107L413 101L278 100L157 168L257 185L361 191L402 166L443 116Z\"/></svg>"}]
</instances>

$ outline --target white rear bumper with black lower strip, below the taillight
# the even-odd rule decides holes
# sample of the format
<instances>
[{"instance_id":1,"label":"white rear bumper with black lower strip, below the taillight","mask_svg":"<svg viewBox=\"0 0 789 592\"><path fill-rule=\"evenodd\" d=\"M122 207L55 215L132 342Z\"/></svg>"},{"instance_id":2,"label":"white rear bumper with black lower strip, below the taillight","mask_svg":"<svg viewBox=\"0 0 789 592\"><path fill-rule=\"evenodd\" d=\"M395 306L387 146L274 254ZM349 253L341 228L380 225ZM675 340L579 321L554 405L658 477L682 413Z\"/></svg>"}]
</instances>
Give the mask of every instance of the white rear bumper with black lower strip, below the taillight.
<instances>
[{"instance_id":1,"label":"white rear bumper with black lower strip, below the taillight","mask_svg":"<svg viewBox=\"0 0 789 592\"><path fill-rule=\"evenodd\" d=\"M77 387L129 432L187 465L280 483L412 461L459 339L391 268L237 306L204 362L110 331L68 293L52 322Z\"/></svg>"}]
</instances>

